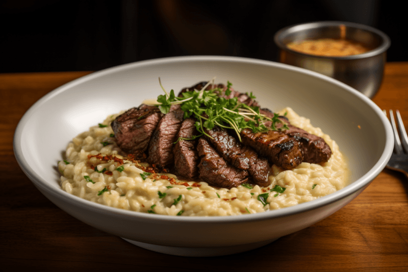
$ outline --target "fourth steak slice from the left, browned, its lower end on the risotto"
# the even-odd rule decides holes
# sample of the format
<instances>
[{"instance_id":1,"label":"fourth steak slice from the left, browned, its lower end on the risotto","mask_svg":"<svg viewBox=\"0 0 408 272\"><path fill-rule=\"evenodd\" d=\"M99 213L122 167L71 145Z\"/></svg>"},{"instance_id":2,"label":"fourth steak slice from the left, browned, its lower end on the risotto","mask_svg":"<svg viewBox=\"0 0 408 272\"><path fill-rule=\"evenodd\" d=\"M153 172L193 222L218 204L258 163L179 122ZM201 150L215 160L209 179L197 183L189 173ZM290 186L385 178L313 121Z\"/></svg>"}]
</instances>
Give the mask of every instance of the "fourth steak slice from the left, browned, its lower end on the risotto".
<instances>
[{"instance_id":1,"label":"fourth steak slice from the left, browned, its lower end on the risotto","mask_svg":"<svg viewBox=\"0 0 408 272\"><path fill-rule=\"evenodd\" d=\"M228 164L203 137L197 144L199 178L210 185L228 188L248 181L248 172Z\"/></svg>"}]
</instances>

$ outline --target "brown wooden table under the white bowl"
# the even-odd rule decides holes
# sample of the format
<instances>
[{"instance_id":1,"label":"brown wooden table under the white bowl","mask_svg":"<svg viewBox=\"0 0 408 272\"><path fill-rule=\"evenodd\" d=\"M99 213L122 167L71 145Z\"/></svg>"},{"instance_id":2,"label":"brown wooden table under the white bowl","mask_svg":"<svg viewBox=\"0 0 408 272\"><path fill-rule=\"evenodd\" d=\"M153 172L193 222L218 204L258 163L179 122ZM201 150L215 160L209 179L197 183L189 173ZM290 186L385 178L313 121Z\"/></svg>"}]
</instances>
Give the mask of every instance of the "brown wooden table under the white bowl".
<instances>
[{"instance_id":1,"label":"brown wooden table under the white bowl","mask_svg":"<svg viewBox=\"0 0 408 272\"><path fill-rule=\"evenodd\" d=\"M263 248L224 257L151 252L71 217L23 174L12 142L17 122L31 105L88 73L0 74L0 270L408 271L408 181L389 170L317 224ZM408 63L387 64L373 101L382 109L399 109L408 127Z\"/></svg>"}]
</instances>

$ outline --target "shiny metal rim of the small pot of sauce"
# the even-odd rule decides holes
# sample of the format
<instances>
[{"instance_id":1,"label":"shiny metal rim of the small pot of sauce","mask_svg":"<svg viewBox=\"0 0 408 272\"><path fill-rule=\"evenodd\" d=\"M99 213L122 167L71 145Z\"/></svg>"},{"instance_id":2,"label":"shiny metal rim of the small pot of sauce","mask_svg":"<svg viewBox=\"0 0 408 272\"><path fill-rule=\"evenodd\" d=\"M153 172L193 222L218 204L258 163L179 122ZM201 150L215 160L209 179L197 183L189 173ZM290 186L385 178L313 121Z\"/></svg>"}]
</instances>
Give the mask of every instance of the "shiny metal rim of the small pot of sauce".
<instances>
[{"instance_id":1,"label":"shiny metal rim of the small pot of sauce","mask_svg":"<svg viewBox=\"0 0 408 272\"><path fill-rule=\"evenodd\" d=\"M379 46L375 47L374 49L370 51L362 53L362 54L349 55L349 56L318 56L318 55L312 55L312 54L306 54L306 53L294 51L288 48L286 44L282 41L283 37L285 37L289 33L300 32L304 29L318 29L318 28L323 28L323 27L336 27L340 25L344 25L346 27L355 28L355 29L362 29L362 30L374 33L378 35L379 37L381 37L382 42ZM278 30L273 36L273 40L275 44L279 48L281 48L281 50L285 50L293 54L299 54L305 57L314 57L314 58L320 58L320 59L335 59L335 60L356 60L356 59L369 58L369 57L377 56L377 55L380 55L386 52L388 48L391 46L391 39L384 32L376 28L367 26L366 24L348 22L348 21L314 21L314 22L304 22L304 23L293 24L292 26L288 26L288 27Z\"/></svg>"}]
</instances>

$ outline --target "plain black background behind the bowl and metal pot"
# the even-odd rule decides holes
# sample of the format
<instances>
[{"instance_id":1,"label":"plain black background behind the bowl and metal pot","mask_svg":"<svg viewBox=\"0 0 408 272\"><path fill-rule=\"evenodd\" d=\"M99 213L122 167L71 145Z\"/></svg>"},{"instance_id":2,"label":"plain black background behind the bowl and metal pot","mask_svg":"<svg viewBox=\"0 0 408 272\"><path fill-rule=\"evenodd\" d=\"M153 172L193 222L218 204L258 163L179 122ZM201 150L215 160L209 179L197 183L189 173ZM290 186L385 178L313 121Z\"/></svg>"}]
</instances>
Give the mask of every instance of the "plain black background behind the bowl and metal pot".
<instances>
[{"instance_id":1,"label":"plain black background behind the bowl and metal pot","mask_svg":"<svg viewBox=\"0 0 408 272\"><path fill-rule=\"evenodd\" d=\"M320 20L364 23L408 61L406 11L385 0L11 1L0 4L0 72L100 70L186 55L277 60L273 35Z\"/></svg>"}]
</instances>

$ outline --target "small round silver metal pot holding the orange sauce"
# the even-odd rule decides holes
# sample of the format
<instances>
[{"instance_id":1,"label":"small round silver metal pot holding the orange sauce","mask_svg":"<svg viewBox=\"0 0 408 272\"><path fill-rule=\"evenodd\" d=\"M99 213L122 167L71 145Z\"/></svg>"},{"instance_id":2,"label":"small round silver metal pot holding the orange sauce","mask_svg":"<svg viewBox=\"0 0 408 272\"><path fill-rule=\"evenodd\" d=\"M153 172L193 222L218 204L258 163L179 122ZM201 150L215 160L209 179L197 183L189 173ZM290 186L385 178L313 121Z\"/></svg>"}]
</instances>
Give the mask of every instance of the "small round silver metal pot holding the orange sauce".
<instances>
[{"instance_id":1,"label":"small round silver metal pot holding the orange sauce","mask_svg":"<svg viewBox=\"0 0 408 272\"><path fill-rule=\"evenodd\" d=\"M304 54L289 49L290 42L320 38L346 39L373 48L358 55L327 57ZM372 98L377 93L386 62L390 38L383 32L364 24L321 21L297 24L279 30L274 36L281 48L279 61L313 70L337 79Z\"/></svg>"}]
</instances>

